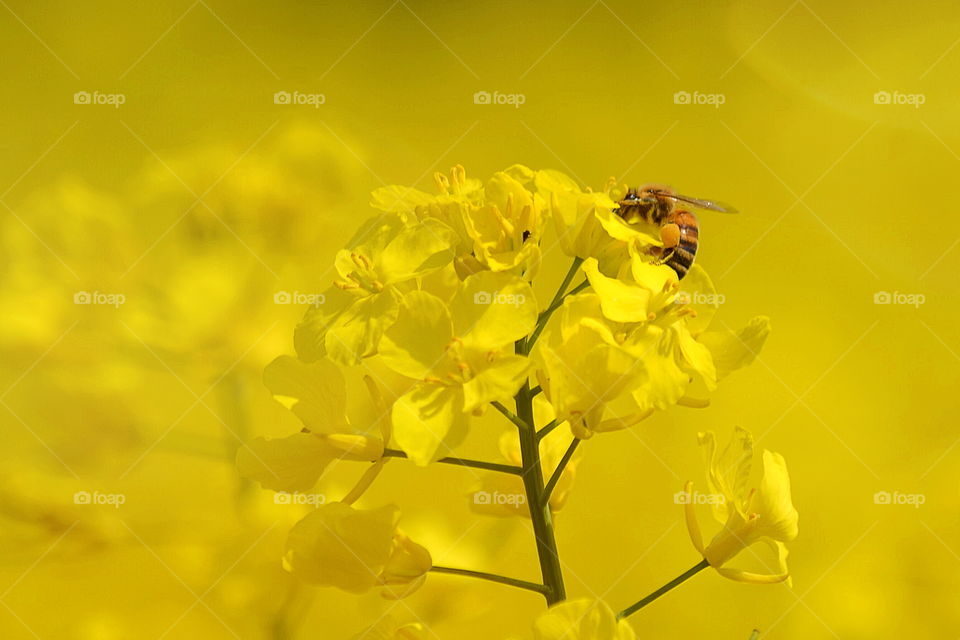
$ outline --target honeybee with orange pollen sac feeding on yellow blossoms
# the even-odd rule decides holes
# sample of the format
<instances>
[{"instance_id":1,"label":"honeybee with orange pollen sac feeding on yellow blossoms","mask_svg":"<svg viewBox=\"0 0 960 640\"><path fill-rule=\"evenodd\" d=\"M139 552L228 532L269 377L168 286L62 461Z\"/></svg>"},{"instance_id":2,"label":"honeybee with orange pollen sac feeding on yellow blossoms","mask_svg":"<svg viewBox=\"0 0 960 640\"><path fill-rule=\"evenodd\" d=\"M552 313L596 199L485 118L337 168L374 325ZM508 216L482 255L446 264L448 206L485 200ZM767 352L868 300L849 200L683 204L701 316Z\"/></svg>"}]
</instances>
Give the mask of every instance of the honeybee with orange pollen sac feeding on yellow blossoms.
<instances>
[{"instance_id":1,"label":"honeybee with orange pollen sac feeding on yellow blossoms","mask_svg":"<svg viewBox=\"0 0 960 640\"><path fill-rule=\"evenodd\" d=\"M735 208L723 202L682 196L659 184L628 189L617 204L616 213L627 224L646 222L660 227L663 249L658 248L658 262L673 269L680 279L693 266L700 244L697 217L683 205L720 213L737 213Z\"/></svg>"}]
</instances>

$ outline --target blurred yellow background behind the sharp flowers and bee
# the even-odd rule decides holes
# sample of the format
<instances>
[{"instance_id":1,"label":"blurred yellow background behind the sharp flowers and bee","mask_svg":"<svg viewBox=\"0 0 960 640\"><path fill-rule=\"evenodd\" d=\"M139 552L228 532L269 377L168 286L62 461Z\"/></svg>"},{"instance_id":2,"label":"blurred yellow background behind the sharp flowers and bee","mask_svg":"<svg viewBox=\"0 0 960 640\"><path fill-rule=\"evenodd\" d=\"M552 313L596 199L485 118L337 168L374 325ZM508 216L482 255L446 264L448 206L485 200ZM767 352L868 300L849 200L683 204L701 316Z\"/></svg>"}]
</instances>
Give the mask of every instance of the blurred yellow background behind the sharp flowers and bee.
<instances>
[{"instance_id":1,"label":"blurred yellow background behind the sharp flowers and bee","mask_svg":"<svg viewBox=\"0 0 960 640\"><path fill-rule=\"evenodd\" d=\"M790 467L793 588L705 572L639 637L957 637L956 3L0 5L0 637L349 638L391 609L530 637L542 600L500 585L297 586L303 511L233 466L298 428L260 383L304 310L275 295L329 285L370 191L456 163L735 203L698 262L723 322L773 320L710 408L581 449L571 596L622 608L696 562L673 494L702 481L697 431L741 425ZM494 456L489 420L464 455ZM362 504L401 504L438 564L537 575L526 521L468 510L469 472L385 477Z\"/></svg>"}]
</instances>

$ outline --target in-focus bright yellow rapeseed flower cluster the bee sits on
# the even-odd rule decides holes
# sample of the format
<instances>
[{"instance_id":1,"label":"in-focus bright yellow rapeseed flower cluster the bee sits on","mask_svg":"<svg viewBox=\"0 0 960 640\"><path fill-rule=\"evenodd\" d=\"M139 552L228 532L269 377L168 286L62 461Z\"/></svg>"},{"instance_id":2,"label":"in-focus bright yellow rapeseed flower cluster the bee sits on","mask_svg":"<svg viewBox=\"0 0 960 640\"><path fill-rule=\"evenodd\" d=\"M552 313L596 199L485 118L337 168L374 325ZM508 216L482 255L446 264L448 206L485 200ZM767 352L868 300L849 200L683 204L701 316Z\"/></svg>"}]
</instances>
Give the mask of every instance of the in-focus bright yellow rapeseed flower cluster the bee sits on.
<instances>
[{"instance_id":1,"label":"in-focus bright yellow rapeseed flower cluster the bee sits on","mask_svg":"<svg viewBox=\"0 0 960 640\"><path fill-rule=\"evenodd\" d=\"M656 229L617 215L612 183L594 192L520 165L485 183L455 167L435 183L432 194L400 186L373 193L379 213L337 254L324 304L296 329L297 357L276 359L264 375L303 430L255 440L238 455L243 475L277 491L309 490L338 459L372 463L342 501L290 532L285 566L314 584L382 587L402 597L432 568L429 552L397 528L396 507L351 506L389 458L489 468L478 492L538 504L474 501L475 511L532 517L549 538L549 514L569 495L581 440L674 405L705 406L696 396L749 364L769 333L763 317L739 331L712 329L718 305L706 272L694 265L681 285L656 258ZM539 302L531 281L545 260L561 255L573 262L563 285L552 301ZM372 409L357 414L358 398ZM505 406L514 402L517 414ZM509 464L451 457L490 407L519 427L500 440ZM702 442L712 456L712 436ZM796 535L785 467L765 453L759 489L744 494L730 478L739 483L745 463L737 458L741 467L731 468L730 454L721 458L711 462L710 478L730 499L725 529L704 547L688 515L691 535L718 571L756 580L722 565L753 541L782 549ZM532 588L562 601L562 584L558 592L549 584L557 576L547 574L547 584ZM543 640L634 637L606 605L585 601L557 604L536 629Z\"/></svg>"}]
</instances>

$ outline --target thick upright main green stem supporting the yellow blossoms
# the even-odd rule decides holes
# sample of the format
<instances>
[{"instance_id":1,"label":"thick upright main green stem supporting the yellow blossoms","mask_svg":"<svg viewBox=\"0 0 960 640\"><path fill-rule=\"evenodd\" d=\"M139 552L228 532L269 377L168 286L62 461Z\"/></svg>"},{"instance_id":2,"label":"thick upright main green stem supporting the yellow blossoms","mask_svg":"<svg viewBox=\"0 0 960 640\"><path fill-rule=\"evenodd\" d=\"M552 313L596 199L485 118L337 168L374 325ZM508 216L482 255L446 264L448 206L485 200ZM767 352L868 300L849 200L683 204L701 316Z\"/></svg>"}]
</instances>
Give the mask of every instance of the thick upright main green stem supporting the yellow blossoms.
<instances>
[{"instance_id":1,"label":"thick upright main green stem supporting the yellow blossoms","mask_svg":"<svg viewBox=\"0 0 960 640\"><path fill-rule=\"evenodd\" d=\"M516 344L522 350L522 342ZM540 447L537 432L533 427L533 398L530 395L530 383L525 382L516 395L517 415L524 423L520 427L520 457L523 461L523 488L530 507L530 520L533 522L533 535L536 538L537 557L540 559L540 573L546 587L544 597L548 605L566 599L563 585L563 570L557 552L557 540L553 532L553 513L549 504L544 504L543 469L540 466Z\"/></svg>"}]
</instances>

